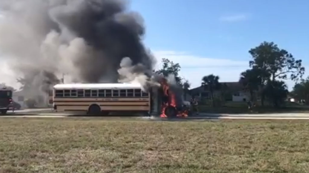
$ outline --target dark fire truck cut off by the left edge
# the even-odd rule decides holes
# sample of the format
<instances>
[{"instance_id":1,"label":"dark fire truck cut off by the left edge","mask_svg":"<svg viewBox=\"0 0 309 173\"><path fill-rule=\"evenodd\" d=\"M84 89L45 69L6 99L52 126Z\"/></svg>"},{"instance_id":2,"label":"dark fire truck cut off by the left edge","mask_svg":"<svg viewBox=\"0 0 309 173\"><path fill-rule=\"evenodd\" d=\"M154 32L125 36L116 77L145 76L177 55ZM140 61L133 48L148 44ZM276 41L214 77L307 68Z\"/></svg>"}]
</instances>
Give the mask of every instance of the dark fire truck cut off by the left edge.
<instances>
[{"instance_id":1,"label":"dark fire truck cut off by the left edge","mask_svg":"<svg viewBox=\"0 0 309 173\"><path fill-rule=\"evenodd\" d=\"M0 112L6 114L12 106L12 91L6 88L0 89Z\"/></svg>"}]
</instances>

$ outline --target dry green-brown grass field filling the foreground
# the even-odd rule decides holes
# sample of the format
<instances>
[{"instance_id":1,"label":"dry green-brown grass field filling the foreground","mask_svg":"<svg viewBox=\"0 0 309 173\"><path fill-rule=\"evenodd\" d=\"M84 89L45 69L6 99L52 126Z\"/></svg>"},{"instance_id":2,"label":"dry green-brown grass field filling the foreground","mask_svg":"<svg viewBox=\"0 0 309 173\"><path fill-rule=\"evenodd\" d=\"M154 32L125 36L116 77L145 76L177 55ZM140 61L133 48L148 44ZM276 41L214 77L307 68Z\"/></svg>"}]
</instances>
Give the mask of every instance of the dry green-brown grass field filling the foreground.
<instances>
[{"instance_id":1,"label":"dry green-brown grass field filling the foreground","mask_svg":"<svg viewBox=\"0 0 309 173\"><path fill-rule=\"evenodd\" d=\"M0 119L0 172L309 172L309 122Z\"/></svg>"}]
</instances>

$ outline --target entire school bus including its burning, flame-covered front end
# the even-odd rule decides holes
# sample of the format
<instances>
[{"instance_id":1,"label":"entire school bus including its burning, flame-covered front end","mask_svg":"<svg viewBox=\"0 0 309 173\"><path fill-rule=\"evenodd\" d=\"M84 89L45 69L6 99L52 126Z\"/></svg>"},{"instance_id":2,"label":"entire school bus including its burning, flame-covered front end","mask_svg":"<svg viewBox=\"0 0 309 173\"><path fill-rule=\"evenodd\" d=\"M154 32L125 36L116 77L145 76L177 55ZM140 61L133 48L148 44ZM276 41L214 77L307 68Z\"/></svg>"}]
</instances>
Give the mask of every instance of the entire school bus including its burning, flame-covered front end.
<instances>
[{"instance_id":1,"label":"entire school bus including its burning, flame-covered front end","mask_svg":"<svg viewBox=\"0 0 309 173\"><path fill-rule=\"evenodd\" d=\"M85 111L89 115L122 111L187 117L188 108L177 104L165 80L161 86L144 92L139 83L57 84L53 87L53 106L57 111Z\"/></svg>"}]
</instances>

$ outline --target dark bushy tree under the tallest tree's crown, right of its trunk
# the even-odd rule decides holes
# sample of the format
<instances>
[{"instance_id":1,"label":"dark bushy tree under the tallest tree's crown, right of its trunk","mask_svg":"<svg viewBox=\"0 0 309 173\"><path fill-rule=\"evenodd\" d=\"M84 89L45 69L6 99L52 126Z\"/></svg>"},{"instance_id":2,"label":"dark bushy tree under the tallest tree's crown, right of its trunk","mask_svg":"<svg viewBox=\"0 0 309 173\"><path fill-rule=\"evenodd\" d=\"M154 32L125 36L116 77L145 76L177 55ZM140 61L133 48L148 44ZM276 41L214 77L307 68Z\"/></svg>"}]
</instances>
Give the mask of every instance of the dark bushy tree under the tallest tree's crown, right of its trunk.
<instances>
[{"instance_id":1,"label":"dark bushy tree under the tallest tree's crown, right of its trunk","mask_svg":"<svg viewBox=\"0 0 309 173\"><path fill-rule=\"evenodd\" d=\"M274 107L280 107L285 103L289 91L283 81L268 80L265 87L265 94Z\"/></svg>"}]
</instances>

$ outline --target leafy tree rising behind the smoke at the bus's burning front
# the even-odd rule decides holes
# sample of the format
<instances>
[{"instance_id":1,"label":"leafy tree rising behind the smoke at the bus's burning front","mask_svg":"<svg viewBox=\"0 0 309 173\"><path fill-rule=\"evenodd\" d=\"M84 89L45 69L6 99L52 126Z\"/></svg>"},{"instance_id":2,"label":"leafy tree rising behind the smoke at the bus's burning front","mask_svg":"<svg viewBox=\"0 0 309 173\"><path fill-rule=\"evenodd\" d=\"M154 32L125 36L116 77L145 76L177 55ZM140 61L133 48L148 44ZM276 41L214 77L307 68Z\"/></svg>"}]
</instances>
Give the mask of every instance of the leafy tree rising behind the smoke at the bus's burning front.
<instances>
[{"instance_id":1,"label":"leafy tree rising behind the smoke at the bus's burning front","mask_svg":"<svg viewBox=\"0 0 309 173\"><path fill-rule=\"evenodd\" d=\"M160 70L156 71L157 74L162 74L164 77L167 77L170 74L175 76L175 80L179 85L182 85L182 78L179 76L180 65L179 63L174 63L169 59L162 59L163 66Z\"/></svg>"}]
</instances>

